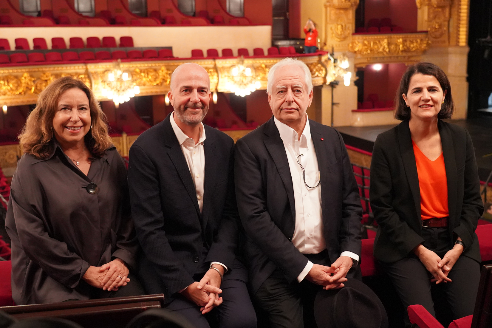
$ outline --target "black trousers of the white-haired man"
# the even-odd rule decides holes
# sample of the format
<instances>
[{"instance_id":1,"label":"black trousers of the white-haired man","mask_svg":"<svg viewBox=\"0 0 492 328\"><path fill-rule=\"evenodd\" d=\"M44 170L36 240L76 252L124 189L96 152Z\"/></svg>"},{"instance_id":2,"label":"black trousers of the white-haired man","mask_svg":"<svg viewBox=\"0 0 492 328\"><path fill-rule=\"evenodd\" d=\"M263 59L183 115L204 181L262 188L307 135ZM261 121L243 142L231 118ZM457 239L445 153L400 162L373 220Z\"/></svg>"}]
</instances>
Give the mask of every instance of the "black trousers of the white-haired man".
<instances>
[{"instance_id":1,"label":"black trousers of the white-haired man","mask_svg":"<svg viewBox=\"0 0 492 328\"><path fill-rule=\"evenodd\" d=\"M328 252L306 254L315 264L330 266ZM353 280L362 280L360 267L351 268L347 273L346 287L357 288ZM360 282L359 282L360 283ZM322 286L304 279L290 284L276 269L260 286L254 299L259 307L267 312L271 328L317 328L314 320L314 298Z\"/></svg>"}]
</instances>

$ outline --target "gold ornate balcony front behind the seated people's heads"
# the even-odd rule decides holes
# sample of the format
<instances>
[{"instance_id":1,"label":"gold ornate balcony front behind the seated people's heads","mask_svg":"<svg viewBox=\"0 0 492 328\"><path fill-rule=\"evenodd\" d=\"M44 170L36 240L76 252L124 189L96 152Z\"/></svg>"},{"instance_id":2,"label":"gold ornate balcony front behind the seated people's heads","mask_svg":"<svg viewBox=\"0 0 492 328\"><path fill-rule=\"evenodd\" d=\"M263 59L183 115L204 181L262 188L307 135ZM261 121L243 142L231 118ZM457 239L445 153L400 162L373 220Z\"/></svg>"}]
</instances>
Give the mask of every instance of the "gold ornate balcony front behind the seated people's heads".
<instances>
[{"instance_id":1,"label":"gold ornate balcony front behind the seated people's heads","mask_svg":"<svg viewBox=\"0 0 492 328\"><path fill-rule=\"evenodd\" d=\"M261 83L260 89L267 88L268 71L272 65L284 57L246 58L245 63L255 69L256 78ZM311 69L312 83L319 86L326 81L327 55L299 57ZM185 62L195 62L204 67L210 76L211 90L227 92L225 81L231 73L230 68L238 63L237 58L231 59L200 59L200 60L155 60L125 61L122 69L131 72L132 80L140 87L139 96L166 94L169 91L171 74ZM93 62L77 65L37 65L14 66L0 69L0 106L18 106L35 104L37 95L46 86L62 76L73 76L81 79L93 91L97 99L107 100L102 96L104 72L113 69L113 62Z\"/></svg>"}]
</instances>

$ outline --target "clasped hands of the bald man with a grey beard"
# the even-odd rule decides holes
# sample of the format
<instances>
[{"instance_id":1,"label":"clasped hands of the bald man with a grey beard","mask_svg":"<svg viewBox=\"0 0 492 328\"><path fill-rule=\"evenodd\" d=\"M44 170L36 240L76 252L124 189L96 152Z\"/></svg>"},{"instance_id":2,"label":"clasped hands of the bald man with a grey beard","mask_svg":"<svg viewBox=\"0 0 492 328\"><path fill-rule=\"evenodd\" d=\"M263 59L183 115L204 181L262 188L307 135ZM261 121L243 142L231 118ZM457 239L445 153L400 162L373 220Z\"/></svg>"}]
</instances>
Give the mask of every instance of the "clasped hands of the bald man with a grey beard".
<instances>
[{"instance_id":1,"label":"clasped hands of the bald man with a grey beard","mask_svg":"<svg viewBox=\"0 0 492 328\"><path fill-rule=\"evenodd\" d=\"M221 265L214 265L222 275L224 274L224 268ZM212 311L216 306L222 304L222 297L218 295L222 293L219 288L222 283L220 274L214 269L209 269L202 280L195 281L187 288L185 288L181 295L189 299L196 305L200 306L202 314Z\"/></svg>"}]
</instances>

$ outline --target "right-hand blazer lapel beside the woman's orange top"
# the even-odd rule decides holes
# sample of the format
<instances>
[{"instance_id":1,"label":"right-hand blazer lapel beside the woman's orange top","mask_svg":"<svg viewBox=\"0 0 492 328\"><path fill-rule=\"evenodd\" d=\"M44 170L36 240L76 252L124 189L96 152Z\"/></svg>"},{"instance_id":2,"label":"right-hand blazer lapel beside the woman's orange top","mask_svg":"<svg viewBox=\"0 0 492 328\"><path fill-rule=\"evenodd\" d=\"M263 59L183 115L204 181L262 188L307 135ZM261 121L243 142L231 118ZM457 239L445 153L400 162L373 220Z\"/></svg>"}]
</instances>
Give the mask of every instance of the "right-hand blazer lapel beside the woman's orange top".
<instances>
[{"instance_id":1,"label":"right-hand blazer lapel beside the woman's orange top","mask_svg":"<svg viewBox=\"0 0 492 328\"><path fill-rule=\"evenodd\" d=\"M446 179L448 182L448 210L449 210L449 223L450 232L453 232L454 221L456 220L456 190L458 189L456 168L455 148L453 144L453 136L449 128L439 119L437 127L439 128L439 134L441 135L442 155L444 156L444 166L446 167Z\"/></svg>"}]
</instances>

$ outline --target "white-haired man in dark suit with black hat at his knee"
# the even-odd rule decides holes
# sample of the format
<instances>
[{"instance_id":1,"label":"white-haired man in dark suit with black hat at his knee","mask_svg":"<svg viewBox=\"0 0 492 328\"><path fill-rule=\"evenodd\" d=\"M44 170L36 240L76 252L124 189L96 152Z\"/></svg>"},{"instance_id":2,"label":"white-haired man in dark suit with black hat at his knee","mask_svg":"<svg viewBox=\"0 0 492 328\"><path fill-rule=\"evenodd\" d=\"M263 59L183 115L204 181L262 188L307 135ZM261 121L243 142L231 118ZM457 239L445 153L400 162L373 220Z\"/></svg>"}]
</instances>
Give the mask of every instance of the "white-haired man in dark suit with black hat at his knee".
<instances>
[{"instance_id":1,"label":"white-haired man in dark suit with black hat at his knee","mask_svg":"<svg viewBox=\"0 0 492 328\"><path fill-rule=\"evenodd\" d=\"M267 92L273 117L238 140L234 170L255 301L274 328L316 327L313 302L323 289L328 297L369 294L385 317L358 280L362 208L347 150L337 130L307 118L313 89L306 64L280 60Z\"/></svg>"}]
</instances>

